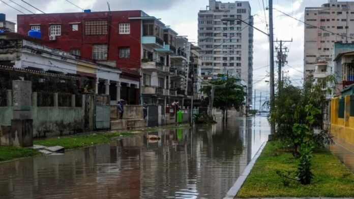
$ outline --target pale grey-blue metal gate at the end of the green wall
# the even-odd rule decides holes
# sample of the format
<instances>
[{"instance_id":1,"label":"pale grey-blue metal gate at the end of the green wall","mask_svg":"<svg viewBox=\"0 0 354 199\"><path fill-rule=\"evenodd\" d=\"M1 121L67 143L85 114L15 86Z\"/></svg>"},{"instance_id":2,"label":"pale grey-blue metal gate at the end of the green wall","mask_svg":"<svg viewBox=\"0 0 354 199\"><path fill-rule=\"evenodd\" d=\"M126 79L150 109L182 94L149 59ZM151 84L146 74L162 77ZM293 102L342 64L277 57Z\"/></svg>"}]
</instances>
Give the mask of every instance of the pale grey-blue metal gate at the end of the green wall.
<instances>
[{"instance_id":1,"label":"pale grey-blue metal gate at the end of the green wall","mask_svg":"<svg viewBox=\"0 0 354 199\"><path fill-rule=\"evenodd\" d=\"M110 128L110 96L96 94L95 96L95 127L96 129Z\"/></svg>"}]
</instances>

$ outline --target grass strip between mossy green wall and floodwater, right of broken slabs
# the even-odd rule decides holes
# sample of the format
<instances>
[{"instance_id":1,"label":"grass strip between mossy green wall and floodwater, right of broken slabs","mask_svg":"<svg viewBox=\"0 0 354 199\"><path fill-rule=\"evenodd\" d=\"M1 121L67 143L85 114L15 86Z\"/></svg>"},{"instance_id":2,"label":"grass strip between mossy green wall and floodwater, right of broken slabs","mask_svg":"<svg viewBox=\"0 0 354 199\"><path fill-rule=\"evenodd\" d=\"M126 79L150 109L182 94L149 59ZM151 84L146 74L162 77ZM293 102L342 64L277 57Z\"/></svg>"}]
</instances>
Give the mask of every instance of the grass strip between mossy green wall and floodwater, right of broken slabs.
<instances>
[{"instance_id":1,"label":"grass strip between mossy green wall and floodwater, right of broken slabs","mask_svg":"<svg viewBox=\"0 0 354 199\"><path fill-rule=\"evenodd\" d=\"M43 145L43 146L62 146L65 149L75 149L79 147L97 145L102 143L109 143L114 138L120 136L130 136L133 135L130 132L106 132L106 133L98 133L98 134L90 134L90 135L82 135L82 136L65 136L65 137L56 137L56 138L48 138L35 140L34 144Z\"/></svg>"}]
</instances>

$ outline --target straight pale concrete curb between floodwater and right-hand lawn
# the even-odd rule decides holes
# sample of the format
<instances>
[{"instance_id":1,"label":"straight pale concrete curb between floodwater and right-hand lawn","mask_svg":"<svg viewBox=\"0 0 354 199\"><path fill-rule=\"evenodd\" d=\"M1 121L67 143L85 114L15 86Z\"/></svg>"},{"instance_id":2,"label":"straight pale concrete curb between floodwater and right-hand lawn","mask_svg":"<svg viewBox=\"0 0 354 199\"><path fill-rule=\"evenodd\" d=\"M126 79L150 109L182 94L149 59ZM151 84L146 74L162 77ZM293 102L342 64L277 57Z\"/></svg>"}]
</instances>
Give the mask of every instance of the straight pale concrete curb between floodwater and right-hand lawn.
<instances>
[{"instance_id":1,"label":"straight pale concrete curb between floodwater and right-hand lawn","mask_svg":"<svg viewBox=\"0 0 354 199\"><path fill-rule=\"evenodd\" d=\"M250 174L254 163L256 162L256 160L258 159L259 155L263 151L263 148L264 148L265 144L267 144L267 142L263 142L263 144L259 147L257 153L254 155L254 157L252 158L250 163L248 163L245 171L242 173L241 176L239 176L239 178L236 180L236 182L227 191L226 196L224 197L224 199L233 199L234 196L237 194L237 192L239 192L239 190L240 190L241 186L243 185L243 183L245 182L247 176Z\"/></svg>"}]
</instances>

